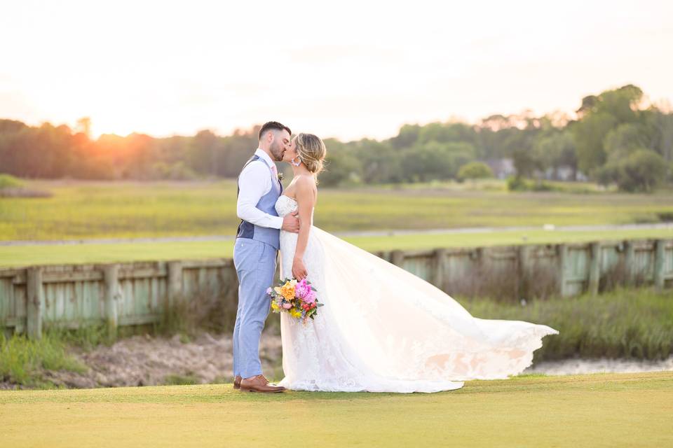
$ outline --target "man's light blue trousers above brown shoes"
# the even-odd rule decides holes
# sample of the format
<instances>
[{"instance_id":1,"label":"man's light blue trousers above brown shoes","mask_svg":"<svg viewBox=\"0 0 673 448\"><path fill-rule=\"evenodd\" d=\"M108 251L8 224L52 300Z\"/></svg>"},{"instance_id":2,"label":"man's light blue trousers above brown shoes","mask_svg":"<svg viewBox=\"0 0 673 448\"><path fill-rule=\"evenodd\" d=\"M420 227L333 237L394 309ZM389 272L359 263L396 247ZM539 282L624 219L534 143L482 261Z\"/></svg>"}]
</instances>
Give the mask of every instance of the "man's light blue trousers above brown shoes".
<instances>
[{"instance_id":1,"label":"man's light blue trousers above brown shoes","mask_svg":"<svg viewBox=\"0 0 673 448\"><path fill-rule=\"evenodd\" d=\"M233 375L243 378L261 374L259 337L271 310L266 288L273 286L278 251L270 244L237 238L233 265L238 275L238 311L233 327Z\"/></svg>"}]
</instances>

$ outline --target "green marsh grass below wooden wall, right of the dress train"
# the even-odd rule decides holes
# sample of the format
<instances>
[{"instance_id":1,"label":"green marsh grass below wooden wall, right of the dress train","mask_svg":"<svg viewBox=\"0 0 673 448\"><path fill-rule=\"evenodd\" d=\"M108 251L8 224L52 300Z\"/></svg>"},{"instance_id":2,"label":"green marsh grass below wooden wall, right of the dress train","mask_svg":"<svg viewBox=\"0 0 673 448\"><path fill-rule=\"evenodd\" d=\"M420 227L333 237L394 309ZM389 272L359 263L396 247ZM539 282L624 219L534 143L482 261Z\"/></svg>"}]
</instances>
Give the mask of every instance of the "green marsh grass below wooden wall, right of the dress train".
<instances>
[{"instance_id":1,"label":"green marsh grass below wooden wall, right of the dress train","mask_svg":"<svg viewBox=\"0 0 673 448\"><path fill-rule=\"evenodd\" d=\"M599 295L504 302L461 299L479 318L544 322L559 330L535 351L540 360L666 359L673 355L673 294L655 288L615 288Z\"/></svg>"}]
</instances>

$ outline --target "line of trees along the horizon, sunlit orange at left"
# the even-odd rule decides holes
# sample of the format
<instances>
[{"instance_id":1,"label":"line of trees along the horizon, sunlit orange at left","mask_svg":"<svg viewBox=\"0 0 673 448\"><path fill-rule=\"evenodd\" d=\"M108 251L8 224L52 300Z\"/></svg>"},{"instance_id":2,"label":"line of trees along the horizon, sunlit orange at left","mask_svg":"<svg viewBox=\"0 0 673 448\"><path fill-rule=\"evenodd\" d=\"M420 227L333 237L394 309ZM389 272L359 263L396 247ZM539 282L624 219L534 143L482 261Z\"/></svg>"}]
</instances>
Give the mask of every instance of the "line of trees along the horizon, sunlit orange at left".
<instances>
[{"instance_id":1,"label":"line of trees along the horizon, sunlit orange at left","mask_svg":"<svg viewBox=\"0 0 673 448\"><path fill-rule=\"evenodd\" d=\"M254 148L257 130L222 137L145 134L88 137L81 129L0 120L0 173L25 178L199 179L236 177ZM628 191L651 191L672 181L673 113L646 104L625 85L583 98L563 113L494 115L477 124L404 125L386 140L327 139L322 185L425 182L489 176L483 162L511 160L517 179L591 179ZM482 162L482 163L480 163ZM566 176L567 177L567 176Z\"/></svg>"}]
</instances>

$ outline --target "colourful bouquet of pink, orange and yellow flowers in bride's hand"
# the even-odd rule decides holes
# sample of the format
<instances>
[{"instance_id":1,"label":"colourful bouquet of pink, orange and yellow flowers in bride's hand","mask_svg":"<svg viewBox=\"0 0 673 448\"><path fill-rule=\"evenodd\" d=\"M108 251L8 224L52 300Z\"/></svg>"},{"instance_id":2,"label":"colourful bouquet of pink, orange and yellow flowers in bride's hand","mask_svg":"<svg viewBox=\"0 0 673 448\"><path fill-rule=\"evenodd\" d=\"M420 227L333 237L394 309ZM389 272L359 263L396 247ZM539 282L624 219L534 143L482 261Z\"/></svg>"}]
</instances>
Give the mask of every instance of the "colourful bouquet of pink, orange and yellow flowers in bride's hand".
<instances>
[{"instance_id":1,"label":"colourful bouquet of pink, orange and yellow flowers in bride's hand","mask_svg":"<svg viewBox=\"0 0 673 448\"><path fill-rule=\"evenodd\" d=\"M303 279L285 279L278 286L268 288L266 293L271 296L271 309L274 313L289 313L298 321L308 322L308 318L318 316L318 297L311 282Z\"/></svg>"}]
</instances>

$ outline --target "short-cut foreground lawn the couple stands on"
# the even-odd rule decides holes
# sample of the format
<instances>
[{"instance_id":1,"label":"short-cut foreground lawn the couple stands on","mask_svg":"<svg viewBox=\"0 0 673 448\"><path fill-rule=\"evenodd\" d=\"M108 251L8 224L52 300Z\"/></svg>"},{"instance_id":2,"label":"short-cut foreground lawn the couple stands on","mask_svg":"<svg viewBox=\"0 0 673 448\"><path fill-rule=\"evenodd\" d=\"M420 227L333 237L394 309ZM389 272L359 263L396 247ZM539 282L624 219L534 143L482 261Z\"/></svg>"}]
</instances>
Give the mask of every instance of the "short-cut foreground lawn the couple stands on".
<instances>
[{"instance_id":1,"label":"short-cut foreground lawn the couple stands on","mask_svg":"<svg viewBox=\"0 0 673 448\"><path fill-rule=\"evenodd\" d=\"M522 376L434 394L231 384L2 391L4 447L665 447L673 372Z\"/></svg>"}]
</instances>

